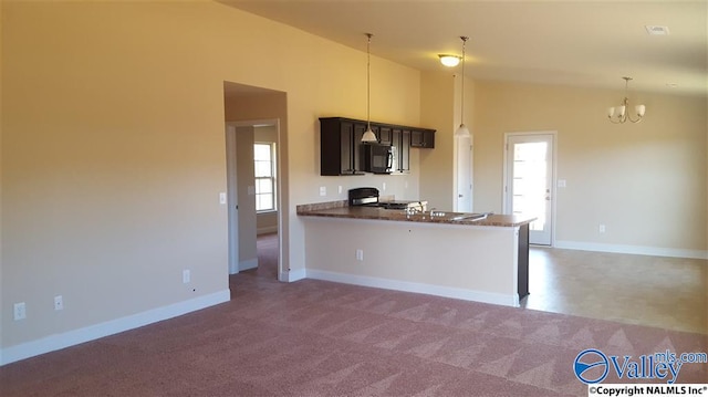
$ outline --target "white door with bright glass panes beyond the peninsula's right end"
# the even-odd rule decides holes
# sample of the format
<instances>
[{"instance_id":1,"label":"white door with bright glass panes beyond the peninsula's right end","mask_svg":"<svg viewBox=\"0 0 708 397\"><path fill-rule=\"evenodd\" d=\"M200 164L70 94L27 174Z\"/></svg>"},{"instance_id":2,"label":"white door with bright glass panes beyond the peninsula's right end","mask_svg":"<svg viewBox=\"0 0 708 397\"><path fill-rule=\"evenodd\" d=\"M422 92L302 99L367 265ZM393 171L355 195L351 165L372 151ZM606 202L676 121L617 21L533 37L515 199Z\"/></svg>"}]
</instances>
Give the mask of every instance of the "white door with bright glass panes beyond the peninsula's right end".
<instances>
[{"instance_id":1,"label":"white door with bright glass panes beyond the peninsula's right end","mask_svg":"<svg viewBox=\"0 0 708 397\"><path fill-rule=\"evenodd\" d=\"M553 228L553 134L507 135L506 213L534 217L529 242L551 245Z\"/></svg>"}]
</instances>

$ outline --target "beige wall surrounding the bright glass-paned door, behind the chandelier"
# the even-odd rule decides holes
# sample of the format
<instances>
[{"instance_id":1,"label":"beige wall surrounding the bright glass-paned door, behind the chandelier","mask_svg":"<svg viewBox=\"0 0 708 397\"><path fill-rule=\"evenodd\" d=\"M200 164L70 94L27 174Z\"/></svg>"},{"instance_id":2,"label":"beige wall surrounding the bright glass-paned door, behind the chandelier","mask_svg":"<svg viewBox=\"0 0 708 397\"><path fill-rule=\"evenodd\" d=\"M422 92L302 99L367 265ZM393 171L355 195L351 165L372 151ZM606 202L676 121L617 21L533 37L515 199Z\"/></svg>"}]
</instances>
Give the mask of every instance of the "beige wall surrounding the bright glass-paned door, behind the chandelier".
<instances>
[{"instance_id":1,"label":"beige wall surrounding the bright glass-paned door, behind the chandelier","mask_svg":"<svg viewBox=\"0 0 708 397\"><path fill-rule=\"evenodd\" d=\"M647 115L613 125L622 91L476 82L475 208L501 211L503 134L558 132L556 239L705 250L706 98L635 93ZM606 224L604 234L597 232ZM697 252L700 254L700 252Z\"/></svg>"}]
</instances>

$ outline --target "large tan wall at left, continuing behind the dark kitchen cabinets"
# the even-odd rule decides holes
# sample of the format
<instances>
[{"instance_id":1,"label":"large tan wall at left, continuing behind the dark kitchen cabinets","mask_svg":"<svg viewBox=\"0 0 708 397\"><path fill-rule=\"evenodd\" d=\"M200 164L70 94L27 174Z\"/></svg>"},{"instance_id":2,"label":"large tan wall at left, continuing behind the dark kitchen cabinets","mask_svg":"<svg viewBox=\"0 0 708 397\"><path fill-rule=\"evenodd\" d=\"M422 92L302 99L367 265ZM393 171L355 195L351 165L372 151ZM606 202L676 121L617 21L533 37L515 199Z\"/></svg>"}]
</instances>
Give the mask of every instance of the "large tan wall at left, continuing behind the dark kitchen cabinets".
<instances>
[{"instance_id":1,"label":"large tan wall at left, continuing behind the dark kitchen cabinets","mask_svg":"<svg viewBox=\"0 0 708 397\"><path fill-rule=\"evenodd\" d=\"M366 115L363 51L211 2L1 7L3 348L228 289L225 81L288 95L287 268L296 203L384 180L319 176L317 117ZM372 119L417 125L419 90L372 58ZM389 194L417 197L405 178Z\"/></svg>"}]
</instances>

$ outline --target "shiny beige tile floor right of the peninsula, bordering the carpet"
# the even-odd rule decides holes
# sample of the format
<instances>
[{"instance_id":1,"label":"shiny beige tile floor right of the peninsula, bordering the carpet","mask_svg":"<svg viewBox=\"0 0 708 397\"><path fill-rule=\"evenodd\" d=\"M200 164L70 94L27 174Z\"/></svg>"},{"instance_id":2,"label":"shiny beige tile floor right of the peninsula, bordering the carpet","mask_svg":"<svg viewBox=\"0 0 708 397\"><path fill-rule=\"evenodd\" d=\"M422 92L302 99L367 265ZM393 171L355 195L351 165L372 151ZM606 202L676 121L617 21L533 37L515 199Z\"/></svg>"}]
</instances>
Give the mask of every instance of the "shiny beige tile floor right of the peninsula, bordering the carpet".
<instances>
[{"instance_id":1,"label":"shiny beige tile floor right of the peninsula, bordering the carpet","mask_svg":"<svg viewBox=\"0 0 708 397\"><path fill-rule=\"evenodd\" d=\"M708 334L708 261L532 247L522 307Z\"/></svg>"}]
</instances>

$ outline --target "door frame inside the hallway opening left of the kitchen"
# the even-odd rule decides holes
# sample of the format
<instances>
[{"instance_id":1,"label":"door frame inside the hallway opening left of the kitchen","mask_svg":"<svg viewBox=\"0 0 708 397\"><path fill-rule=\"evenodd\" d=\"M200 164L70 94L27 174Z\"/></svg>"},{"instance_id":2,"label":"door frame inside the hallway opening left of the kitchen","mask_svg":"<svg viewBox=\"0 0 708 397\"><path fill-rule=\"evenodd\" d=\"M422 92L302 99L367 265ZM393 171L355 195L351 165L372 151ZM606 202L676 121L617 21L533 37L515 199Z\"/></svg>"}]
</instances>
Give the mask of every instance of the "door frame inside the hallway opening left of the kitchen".
<instances>
[{"instance_id":1,"label":"door frame inside the hallway opening left of the kitchen","mask_svg":"<svg viewBox=\"0 0 708 397\"><path fill-rule=\"evenodd\" d=\"M236 274L239 272L239 236L238 236L238 202L236 198L238 197L238 180L237 169L236 169L236 128L237 127L258 127L258 126L267 126L272 125L277 129L277 142L275 145L278 147L275 152L275 166L278 167L277 179L275 179L275 191L277 191L277 202L278 202L278 280L288 281L288 272L283 272L282 269L282 258L283 258L283 233L282 233L282 222L283 222L283 210L282 210L282 147L280 146L280 119L279 118L266 118L266 119L253 119L253 121L243 121L243 122L227 122L226 123L226 144L227 144L227 202L229 206L229 274Z\"/></svg>"}]
</instances>

